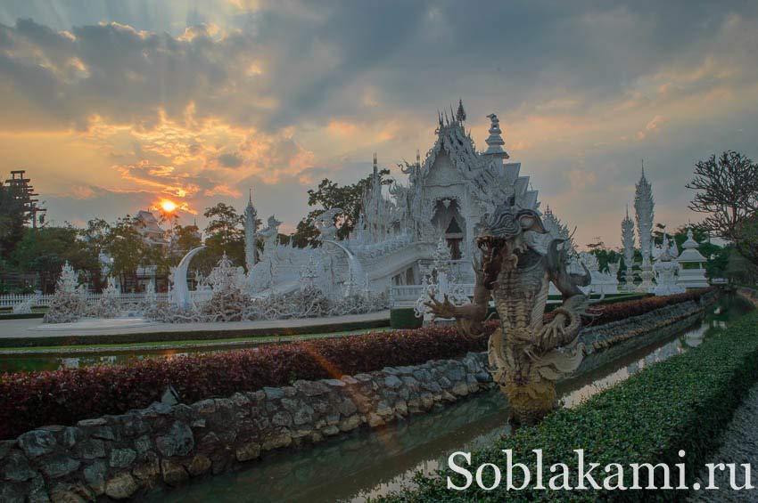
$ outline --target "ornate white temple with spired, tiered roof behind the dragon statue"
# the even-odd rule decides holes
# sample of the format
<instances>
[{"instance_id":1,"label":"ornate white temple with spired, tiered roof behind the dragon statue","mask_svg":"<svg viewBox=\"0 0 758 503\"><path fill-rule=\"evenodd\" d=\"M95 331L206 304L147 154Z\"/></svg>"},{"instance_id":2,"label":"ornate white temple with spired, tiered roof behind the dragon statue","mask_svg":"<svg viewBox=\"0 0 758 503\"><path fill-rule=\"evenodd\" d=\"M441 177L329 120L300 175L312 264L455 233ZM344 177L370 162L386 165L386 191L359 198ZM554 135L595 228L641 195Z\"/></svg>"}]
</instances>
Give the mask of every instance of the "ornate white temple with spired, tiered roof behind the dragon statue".
<instances>
[{"instance_id":1,"label":"ornate white temple with spired, tiered roof behind the dragon statue","mask_svg":"<svg viewBox=\"0 0 758 503\"><path fill-rule=\"evenodd\" d=\"M252 298L288 295L301 288L303 271L309 283L330 298L349 296L358 288L374 294L389 293L392 304L412 306L424 295L429 282L443 270L457 296L471 295L474 287L472 260L478 257L475 239L487 215L504 200L539 211L537 191L529 177L521 176L521 164L507 162L498 117L490 114L489 136L484 151L477 151L466 131L466 111L459 102L438 114L437 138L424 160L400 166L408 175L405 183L392 181L383 191L379 166L374 157L372 181L363 195L363 211L347 239L337 239L341 208L326 208L315 226L320 232L318 247L292 247L279 243L279 221L273 215L268 226L256 227L258 211L252 198L244 212L245 288ZM544 239L562 238L563 247L575 255L568 228L548 210ZM540 238L542 239L542 238ZM262 241L262 252L256 253ZM440 261L440 246L449 247L449 264ZM436 250L436 253L435 253ZM591 257L594 258L594 257ZM590 262L591 258L586 260ZM578 263L573 264L581 272ZM596 264L597 265L597 264ZM591 291L617 291L614 274L594 268ZM430 272L435 271L433 274ZM599 288L599 289L598 289ZM187 302L189 293L185 295ZM185 302L185 304L187 304Z\"/></svg>"}]
</instances>

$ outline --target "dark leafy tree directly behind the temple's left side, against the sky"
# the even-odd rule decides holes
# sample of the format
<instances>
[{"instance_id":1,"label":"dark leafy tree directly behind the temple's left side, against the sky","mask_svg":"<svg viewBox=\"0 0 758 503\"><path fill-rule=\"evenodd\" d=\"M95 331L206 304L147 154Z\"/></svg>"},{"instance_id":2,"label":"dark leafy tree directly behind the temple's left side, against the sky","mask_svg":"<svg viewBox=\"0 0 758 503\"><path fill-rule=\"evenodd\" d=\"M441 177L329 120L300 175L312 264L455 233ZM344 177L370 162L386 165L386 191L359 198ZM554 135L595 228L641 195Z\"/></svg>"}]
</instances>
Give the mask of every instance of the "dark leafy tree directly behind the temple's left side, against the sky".
<instances>
[{"instance_id":1,"label":"dark leafy tree directly behind the temple's left side, against the sky","mask_svg":"<svg viewBox=\"0 0 758 503\"><path fill-rule=\"evenodd\" d=\"M391 178L389 178L389 169L380 169L378 174L382 185L392 183ZM363 195L371 187L373 176L373 174L369 174L366 178L358 180L357 183L342 186L325 178L321 183L318 183L316 190L309 189L308 206L320 206L320 208L310 211L297 224L297 229L292 234L293 246L316 246L318 231L313 223L316 221L318 215L333 207L342 208L342 215L338 215L337 217L340 223L337 230L337 239L347 238L358 223L360 213L363 211Z\"/></svg>"}]
</instances>

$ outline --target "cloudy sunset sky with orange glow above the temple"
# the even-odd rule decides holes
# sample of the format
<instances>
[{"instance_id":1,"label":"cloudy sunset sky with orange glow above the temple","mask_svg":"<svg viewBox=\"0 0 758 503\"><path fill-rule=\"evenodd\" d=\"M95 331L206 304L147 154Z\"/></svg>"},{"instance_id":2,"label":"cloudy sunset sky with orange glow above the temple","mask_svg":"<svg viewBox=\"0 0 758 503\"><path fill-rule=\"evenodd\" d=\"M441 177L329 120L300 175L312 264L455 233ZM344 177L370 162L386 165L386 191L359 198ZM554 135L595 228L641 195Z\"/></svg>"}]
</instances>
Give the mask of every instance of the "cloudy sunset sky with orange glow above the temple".
<instances>
[{"instance_id":1,"label":"cloudy sunset sky with orange glow above the temple","mask_svg":"<svg viewBox=\"0 0 758 503\"><path fill-rule=\"evenodd\" d=\"M655 221L696 221L696 160L758 158L758 3L0 4L0 174L56 223L218 201L291 231L307 189L399 170L462 98L577 241L620 241L644 158Z\"/></svg>"}]
</instances>

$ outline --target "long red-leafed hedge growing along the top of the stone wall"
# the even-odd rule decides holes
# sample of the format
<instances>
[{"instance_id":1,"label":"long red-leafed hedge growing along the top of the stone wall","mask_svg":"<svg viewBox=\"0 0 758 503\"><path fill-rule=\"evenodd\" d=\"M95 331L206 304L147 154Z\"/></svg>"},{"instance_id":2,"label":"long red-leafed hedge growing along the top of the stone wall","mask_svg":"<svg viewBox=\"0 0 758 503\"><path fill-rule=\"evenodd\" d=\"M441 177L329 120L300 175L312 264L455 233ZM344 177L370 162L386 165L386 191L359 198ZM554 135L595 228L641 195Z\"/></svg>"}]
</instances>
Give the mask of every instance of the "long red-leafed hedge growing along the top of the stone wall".
<instances>
[{"instance_id":1,"label":"long red-leafed hedge growing along the top of the stone wall","mask_svg":"<svg viewBox=\"0 0 758 503\"><path fill-rule=\"evenodd\" d=\"M597 306L593 309L600 316L593 323L696 300L699 295L651 297ZM487 331L497 326L497 320L490 320ZM37 426L71 425L84 418L145 407L159 400L169 384L185 402L195 402L263 386L288 385L296 379L341 377L454 358L469 351L483 351L486 340L461 336L454 327L429 327L144 360L123 366L0 374L0 438L12 438Z\"/></svg>"}]
</instances>

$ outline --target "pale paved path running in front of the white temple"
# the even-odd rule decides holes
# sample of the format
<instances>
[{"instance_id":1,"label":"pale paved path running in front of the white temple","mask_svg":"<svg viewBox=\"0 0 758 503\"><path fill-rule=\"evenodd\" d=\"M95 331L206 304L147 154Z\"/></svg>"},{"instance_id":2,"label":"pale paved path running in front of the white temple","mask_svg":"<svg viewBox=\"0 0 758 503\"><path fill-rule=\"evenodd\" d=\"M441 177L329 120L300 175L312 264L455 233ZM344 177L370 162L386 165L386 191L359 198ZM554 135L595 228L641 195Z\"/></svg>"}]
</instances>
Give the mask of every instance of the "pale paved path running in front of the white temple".
<instances>
[{"instance_id":1,"label":"pale paved path running in front of the white temple","mask_svg":"<svg viewBox=\"0 0 758 503\"><path fill-rule=\"evenodd\" d=\"M297 329L303 327L318 327L334 325L335 323L355 323L361 321L389 320L389 311L369 312L367 314L352 314L350 316L334 316L329 318L303 318L297 320L262 320L262 321L231 321L228 323L156 323L139 318L119 318L115 320L81 320L75 323L42 324L42 320L0 320L0 338L15 337L66 337L66 336L104 336L120 334L146 334L184 332L187 338L192 338L192 332L239 331L241 336L245 331L261 329ZM313 331L313 330L309 330ZM231 336L234 337L234 336Z\"/></svg>"}]
</instances>

